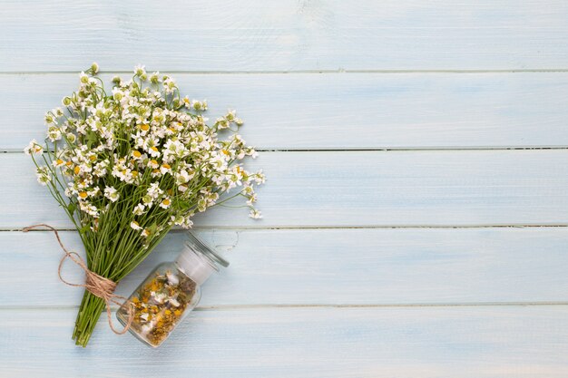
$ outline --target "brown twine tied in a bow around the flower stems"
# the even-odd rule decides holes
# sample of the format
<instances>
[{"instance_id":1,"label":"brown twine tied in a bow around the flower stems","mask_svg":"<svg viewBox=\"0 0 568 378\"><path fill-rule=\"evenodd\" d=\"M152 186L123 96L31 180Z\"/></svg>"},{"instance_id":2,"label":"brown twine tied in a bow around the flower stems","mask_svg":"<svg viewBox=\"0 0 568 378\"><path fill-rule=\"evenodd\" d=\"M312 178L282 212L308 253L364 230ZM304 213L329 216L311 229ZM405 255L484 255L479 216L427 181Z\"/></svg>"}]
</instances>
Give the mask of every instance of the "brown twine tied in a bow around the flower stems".
<instances>
[{"instance_id":1,"label":"brown twine tied in a bow around the flower stems","mask_svg":"<svg viewBox=\"0 0 568 378\"><path fill-rule=\"evenodd\" d=\"M108 316L109 325L110 325L111 329L113 330L113 333L125 334L128 331L128 329L130 328L130 326L132 325L132 320L134 319L134 312L132 310L132 304L130 304L128 306L128 321L126 322L126 325L124 325L124 328L122 328L121 331L118 331L114 328L113 320L112 320L112 316L111 316L111 304L122 305L122 303L119 300L122 300L122 301L127 300L127 298L125 298L124 296L117 296L116 294L114 294L114 289L116 288L116 282L114 282L112 279L97 275L93 271L89 270L89 268L85 264L83 258L80 257L78 253L73 252L73 251L68 251L67 248L64 247L64 244L62 243L61 238L59 237L59 233L57 232L57 230L55 228L53 228L49 225L46 225L44 223L40 223L40 224L37 224L37 225L32 225L32 226L23 228L22 231L28 232L29 230L31 230L33 228L39 228L39 227L49 228L52 231L54 231L55 237L57 237L57 242L59 243L59 246L61 246L61 248L64 250L65 255L64 255L64 257L62 257L61 261L59 262L59 268L57 270L57 275L59 276L59 279L65 285L84 287L85 290L92 293L93 296L98 296L101 299L103 299L104 304L106 305L106 315ZM77 264L79 267L81 267L84 270L84 273L85 273L85 283L84 284L73 284L69 281L66 281L64 279L64 277L61 276L61 270L62 270L62 267L64 266L64 262L67 258L71 258L73 263Z\"/></svg>"}]
</instances>

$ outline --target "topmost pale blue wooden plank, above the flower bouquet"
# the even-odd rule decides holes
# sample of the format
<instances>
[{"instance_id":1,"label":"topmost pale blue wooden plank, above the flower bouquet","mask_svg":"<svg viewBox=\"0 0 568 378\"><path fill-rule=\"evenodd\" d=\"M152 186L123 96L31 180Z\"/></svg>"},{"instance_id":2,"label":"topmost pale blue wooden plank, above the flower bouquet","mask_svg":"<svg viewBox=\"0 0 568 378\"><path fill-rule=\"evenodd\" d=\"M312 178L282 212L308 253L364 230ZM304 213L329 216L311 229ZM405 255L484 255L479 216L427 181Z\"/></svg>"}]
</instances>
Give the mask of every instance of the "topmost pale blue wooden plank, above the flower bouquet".
<instances>
[{"instance_id":1,"label":"topmost pale blue wooden plank, above the flower bouquet","mask_svg":"<svg viewBox=\"0 0 568 378\"><path fill-rule=\"evenodd\" d=\"M566 19L560 0L12 0L0 71L566 69Z\"/></svg>"}]
</instances>

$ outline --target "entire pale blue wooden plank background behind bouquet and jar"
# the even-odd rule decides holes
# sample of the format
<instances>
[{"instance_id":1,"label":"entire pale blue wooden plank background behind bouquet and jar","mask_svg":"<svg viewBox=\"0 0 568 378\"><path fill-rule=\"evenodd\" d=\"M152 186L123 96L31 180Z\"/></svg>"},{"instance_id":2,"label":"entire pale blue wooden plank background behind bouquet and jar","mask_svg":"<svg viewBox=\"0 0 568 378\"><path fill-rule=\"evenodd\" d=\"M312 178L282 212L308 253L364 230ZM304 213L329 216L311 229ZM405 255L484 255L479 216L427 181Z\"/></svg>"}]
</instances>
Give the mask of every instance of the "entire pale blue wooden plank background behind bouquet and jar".
<instances>
[{"instance_id":1,"label":"entire pale blue wooden plank background behind bouquet and jar","mask_svg":"<svg viewBox=\"0 0 568 378\"><path fill-rule=\"evenodd\" d=\"M0 376L568 376L567 2L2 1L0 57ZM260 222L196 219L232 265L158 350L75 347L19 231L70 228L21 150L93 61L236 108L269 177Z\"/></svg>"}]
</instances>

